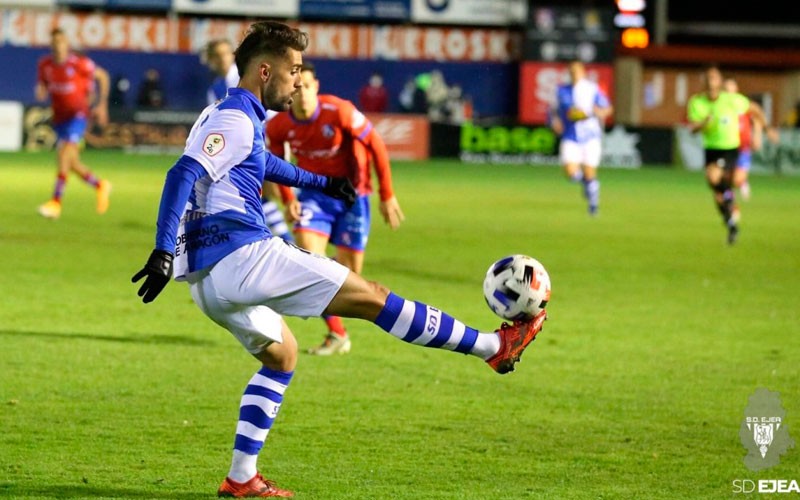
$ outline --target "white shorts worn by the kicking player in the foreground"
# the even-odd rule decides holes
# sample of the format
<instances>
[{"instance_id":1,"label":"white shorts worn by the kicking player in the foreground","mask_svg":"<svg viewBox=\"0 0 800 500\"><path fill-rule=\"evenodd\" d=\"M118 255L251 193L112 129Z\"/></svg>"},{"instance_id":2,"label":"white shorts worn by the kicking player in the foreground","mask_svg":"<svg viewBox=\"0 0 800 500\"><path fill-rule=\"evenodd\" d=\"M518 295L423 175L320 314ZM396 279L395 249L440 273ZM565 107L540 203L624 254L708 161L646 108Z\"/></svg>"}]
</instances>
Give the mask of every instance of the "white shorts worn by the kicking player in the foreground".
<instances>
[{"instance_id":1,"label":"white shorts worn by the kicking player in the foreground","mask_svg":"<svg viewBox=\"0 0 800 500\"><path fill-rule=\"evenodd\" d=\"M283 342L281 315L320 316L350 270L270 238L187 276L195 304L249 352Z\"/></svg>"}]
</instances>

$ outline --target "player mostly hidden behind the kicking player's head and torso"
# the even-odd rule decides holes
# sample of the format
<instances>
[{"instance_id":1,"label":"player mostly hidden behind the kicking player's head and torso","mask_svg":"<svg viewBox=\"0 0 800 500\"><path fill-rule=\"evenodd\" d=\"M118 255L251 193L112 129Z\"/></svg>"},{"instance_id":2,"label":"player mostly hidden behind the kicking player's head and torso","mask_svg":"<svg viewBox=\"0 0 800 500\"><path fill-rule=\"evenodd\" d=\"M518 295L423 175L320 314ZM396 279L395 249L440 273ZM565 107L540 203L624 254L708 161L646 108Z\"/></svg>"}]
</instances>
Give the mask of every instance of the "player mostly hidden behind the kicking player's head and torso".
<instances>
[{"instance_id":1,"label":"player mostly hidden behind the kicking player's head and torso","mask_svg":"<svg viewBox=\"0 0 800 500\"><path fill-rule=\"evenodd\" d=\"M206 95L208 104L211 105L225 98L228 95L228 89L239 85L239 71L236 69L236 64L234 64L233 45L231 42L224 38L208 42L205 62L211 72L216 75ZM267 120L276 114L275 111L267 110ZM261 191L261 207L264 210L264 216L267 218L267 224L272 234L287 241L293 241L292 232L289 231L289 226L283 218L280 207L272 201L277 196L277 187L270 182L265 182Z\"/></svg>"}]
</instances>

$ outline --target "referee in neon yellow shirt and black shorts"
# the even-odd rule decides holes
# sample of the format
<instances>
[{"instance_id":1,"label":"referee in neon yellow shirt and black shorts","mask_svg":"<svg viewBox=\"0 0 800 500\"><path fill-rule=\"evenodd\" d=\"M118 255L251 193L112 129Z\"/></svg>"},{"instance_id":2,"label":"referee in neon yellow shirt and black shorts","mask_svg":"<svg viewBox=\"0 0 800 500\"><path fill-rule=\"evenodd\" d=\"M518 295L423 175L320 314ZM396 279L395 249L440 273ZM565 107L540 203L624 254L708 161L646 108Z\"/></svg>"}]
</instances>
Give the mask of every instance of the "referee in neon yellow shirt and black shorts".
<instances>
[{"instance_id":1,"label":"referee in neon yellow shirt and black shorts","mask_svg":"<svg viewBox=\"0 0 800 500\"><path fill-rule=\"evenodd\" d=\"M767 120L758 104L742 94L726 92L722 83L719 68L711 66L706 69L705 89L689 99L687 118L689 129L703 136L706 180L728 228L728 243L732 245L739 235L740 212L733 185L741 145L740 116L749 115L764 128Z\"/></svg>"}]
</instances>

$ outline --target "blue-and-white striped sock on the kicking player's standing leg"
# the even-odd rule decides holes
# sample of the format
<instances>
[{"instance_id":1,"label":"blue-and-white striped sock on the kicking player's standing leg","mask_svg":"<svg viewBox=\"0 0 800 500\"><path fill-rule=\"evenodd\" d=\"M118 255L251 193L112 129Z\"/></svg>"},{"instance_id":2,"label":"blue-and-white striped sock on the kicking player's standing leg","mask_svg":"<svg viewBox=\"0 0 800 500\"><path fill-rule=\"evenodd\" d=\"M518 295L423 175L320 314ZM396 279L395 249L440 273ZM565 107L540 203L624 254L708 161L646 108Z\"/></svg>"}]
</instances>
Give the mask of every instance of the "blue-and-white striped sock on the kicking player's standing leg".
<instances>
[{"instance_id":1,"label":"blue-and-white striped sock on the kicking player's standing leg","mask_svg":"<svg viewBox=\"0 0 800 500\"><path fill-rule=\"evenodd\" d=\"M278 415L283 393L293 374L262 367L247 384L239 405L239 423L228 473L234 481L244 483L256 475L258 452Z\"/></svg>"}]
</instances>

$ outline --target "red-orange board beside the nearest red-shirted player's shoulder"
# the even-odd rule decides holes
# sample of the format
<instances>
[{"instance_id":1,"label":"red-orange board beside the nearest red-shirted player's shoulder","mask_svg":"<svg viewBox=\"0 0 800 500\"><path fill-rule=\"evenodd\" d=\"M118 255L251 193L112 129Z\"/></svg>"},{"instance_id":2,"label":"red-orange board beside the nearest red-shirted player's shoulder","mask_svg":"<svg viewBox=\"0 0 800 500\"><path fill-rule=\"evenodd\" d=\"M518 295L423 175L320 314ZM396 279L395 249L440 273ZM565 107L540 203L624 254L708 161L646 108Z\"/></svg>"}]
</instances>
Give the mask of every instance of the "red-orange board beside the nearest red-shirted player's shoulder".
<instances>
[{"instance_id":1,"label":"red-orange board beside the nearest red-shirted player's shoulder","mask_svg":"<svg viewBox=\"0 0 800 500\"><path fill-rule=\"evenodd\" d=\"M430 123L422 115L367 113L380 134L389 158L393 160L427 160Z\"/></svg>"}]
</instances>

